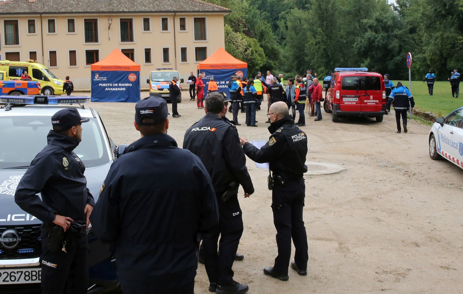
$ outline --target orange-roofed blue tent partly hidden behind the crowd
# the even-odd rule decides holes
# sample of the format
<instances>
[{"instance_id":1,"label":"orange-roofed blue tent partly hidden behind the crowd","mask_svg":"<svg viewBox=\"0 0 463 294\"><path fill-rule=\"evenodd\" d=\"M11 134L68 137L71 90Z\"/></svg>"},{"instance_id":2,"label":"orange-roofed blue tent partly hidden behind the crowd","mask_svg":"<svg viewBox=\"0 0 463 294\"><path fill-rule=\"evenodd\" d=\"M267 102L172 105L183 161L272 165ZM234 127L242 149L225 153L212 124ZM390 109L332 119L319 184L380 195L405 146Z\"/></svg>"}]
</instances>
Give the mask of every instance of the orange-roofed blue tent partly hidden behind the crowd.
<instances>
[{"instance_id":1,"label":"orange-roofed blue tent partly hidden behind the crowd","mask_svg":"<svg viewBox=\"0 0 463 294\"><path fill-rule=\"evenodd\" d=\"M203 74L204 92L207 92L207 84L211 77L219 86L219 91L225 91L230 94L228 82L232 75L246 76L248 73L248 64L233 57L230 53L220 47L213 55L206 60L198 63L196 66L198 74Z\"/></svg>"}]
</instances>

